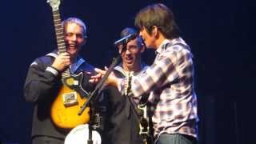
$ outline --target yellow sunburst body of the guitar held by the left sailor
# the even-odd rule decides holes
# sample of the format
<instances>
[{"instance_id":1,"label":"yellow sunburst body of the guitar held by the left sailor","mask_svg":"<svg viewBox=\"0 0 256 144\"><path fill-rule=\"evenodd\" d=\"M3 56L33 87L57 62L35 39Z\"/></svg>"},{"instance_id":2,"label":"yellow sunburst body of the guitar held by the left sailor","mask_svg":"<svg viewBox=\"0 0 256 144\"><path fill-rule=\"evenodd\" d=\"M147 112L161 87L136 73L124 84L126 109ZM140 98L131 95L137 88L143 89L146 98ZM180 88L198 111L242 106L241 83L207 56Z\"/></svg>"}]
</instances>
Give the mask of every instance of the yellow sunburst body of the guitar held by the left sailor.
<instances>
[{"instance_id":1,"label":"yellow sunburst body of the guitar held by the left sailor","mask_svg":"<svg viewBox=\"0 0 256 144\"><path fill-rule=\"evenodd\" d=\"M86 107L86 110L81 115L78 115L81 106L86 102L85 95L81 96L77 92L78 90L76 90L82 90L80 87L82 81L81 78L82 73L71 75L70 78L62 79L64 85L59 90L51 107L52 121L60 128L72 129L75 126L85 124L90 120L89 107Z\"/></svg>"}]
</instances>

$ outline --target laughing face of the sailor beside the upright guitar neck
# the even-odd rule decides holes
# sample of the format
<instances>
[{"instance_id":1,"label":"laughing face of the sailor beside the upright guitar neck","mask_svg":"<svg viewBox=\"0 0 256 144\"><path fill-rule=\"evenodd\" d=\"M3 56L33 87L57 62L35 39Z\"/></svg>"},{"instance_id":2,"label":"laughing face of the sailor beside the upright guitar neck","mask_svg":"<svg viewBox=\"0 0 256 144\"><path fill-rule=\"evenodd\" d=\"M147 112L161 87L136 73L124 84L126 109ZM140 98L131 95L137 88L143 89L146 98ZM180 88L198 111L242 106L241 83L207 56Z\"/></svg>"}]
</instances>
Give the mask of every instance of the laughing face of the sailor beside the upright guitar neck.
<instances>
[{"instance_id":1,"label":"laughing face of the sailor beside the upright guitar neck","mask_svg":"<svg viewBox=\"0 0 256 144\"><path fill-rule=\"evenodd\" d=\"M78 56L78 52L82 46L86 43L84 38L82 26L77 23L69 22L65 26L65 42L66 50L70 54L72 60Z\"/></svg>"}]
</instances>

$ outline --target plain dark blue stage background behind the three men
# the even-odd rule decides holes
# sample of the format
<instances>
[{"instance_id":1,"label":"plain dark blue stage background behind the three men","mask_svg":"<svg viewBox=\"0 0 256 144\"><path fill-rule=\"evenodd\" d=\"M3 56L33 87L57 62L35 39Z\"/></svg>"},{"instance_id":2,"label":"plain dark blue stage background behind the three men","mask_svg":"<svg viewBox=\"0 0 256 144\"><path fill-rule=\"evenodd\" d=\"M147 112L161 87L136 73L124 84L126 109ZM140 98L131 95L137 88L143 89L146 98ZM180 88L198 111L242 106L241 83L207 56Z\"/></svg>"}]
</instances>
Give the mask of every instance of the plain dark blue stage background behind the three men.
<instances>
[{"instance_id":1,"label":"plain dark blue stage background behind the three men","mask_svg":"<svg viewBox=\"0 0 256 144\"><path fill-rule=\"evenodd\" d=\"M86 21L88 42L82 55L94 66L109 66L116 56L112 43L134 25L146 0L64 0L62 18ZM182 38L192 47L196 67L201 144L255 143L255 50L251 1L164 2L171 7ZM50 6L46 0L1 2L0 139L30 143L32 104L23 98L26 72L34 58L54 49ZM152 62L152 52L144 54Z\"/></svg>"}]
</instances>

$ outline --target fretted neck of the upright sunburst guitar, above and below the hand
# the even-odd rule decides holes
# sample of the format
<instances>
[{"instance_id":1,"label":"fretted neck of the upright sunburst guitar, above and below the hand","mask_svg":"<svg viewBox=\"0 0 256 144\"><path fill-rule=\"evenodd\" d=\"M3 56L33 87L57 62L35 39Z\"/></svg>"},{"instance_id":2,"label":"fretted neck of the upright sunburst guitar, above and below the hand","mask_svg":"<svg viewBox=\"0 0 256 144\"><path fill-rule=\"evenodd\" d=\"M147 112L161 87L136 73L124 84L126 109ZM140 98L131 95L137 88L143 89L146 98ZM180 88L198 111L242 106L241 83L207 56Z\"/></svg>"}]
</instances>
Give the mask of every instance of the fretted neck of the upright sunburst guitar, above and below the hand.
<instances>
[{"instance_id":1,"label":"fretted neck of the upright sunburst guitar, above and below the hand","mask_svg":"<svg viewBox=\"0 0 256 144\"><path fill-rule=\"evenodd\" d=\"M53 10L53 18L54 18L54 30L57 39L58 46L58 54L62 54L66 52L66 44L64 41L64 29L62 26L62 20L60 18L59 10ZM70 77L70 69L66 69L62 73L62 78Z\"/></svg>"}]
</instances>

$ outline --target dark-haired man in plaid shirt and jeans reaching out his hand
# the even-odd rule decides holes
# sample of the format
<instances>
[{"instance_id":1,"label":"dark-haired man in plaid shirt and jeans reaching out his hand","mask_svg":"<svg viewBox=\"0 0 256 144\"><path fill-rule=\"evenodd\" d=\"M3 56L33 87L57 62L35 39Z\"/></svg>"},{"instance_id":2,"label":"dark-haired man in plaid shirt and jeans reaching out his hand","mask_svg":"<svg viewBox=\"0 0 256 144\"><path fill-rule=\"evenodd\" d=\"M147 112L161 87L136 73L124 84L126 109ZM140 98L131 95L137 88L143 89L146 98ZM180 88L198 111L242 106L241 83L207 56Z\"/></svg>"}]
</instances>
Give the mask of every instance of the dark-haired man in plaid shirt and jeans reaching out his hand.
<instances>
[{"instance_id":1,"label":"dark-haired man in plaid shirt and jeans reaching out his hand","mask_svg":"<svg viewBox=\"0 0 256 144\"><path fill-rule=\"evenodd\" d=\"M190 46L180 38L174 15L159 3L146 6L135 18L147 48L156 51L154 63L145 74L131 80L134 98L150 94L154 106L152 121L157 144L194 144L198 138L197 98L194 93L194 66ZM96 69L97 81L106 71ZM117 86L122 92L127 79L110 74L106 84Z\"/></svg>"}]
</instances>

